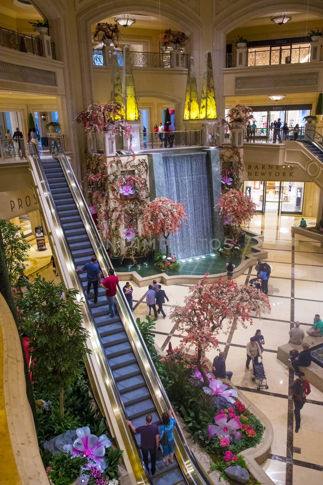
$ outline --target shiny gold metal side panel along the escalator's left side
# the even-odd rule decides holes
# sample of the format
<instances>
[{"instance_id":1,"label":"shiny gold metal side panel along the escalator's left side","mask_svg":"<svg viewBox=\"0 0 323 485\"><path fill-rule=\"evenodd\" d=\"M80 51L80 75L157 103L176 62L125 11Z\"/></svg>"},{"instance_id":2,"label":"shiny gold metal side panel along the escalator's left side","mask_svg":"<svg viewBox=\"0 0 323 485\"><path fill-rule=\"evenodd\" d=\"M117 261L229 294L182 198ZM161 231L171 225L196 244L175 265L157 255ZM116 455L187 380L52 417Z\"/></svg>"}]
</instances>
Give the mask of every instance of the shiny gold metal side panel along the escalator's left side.
<instances>
[{"instance_id":1,"label":"shiny gold metal side panel along the escalator's left side","mask_svg":"<svg viewBox=\"0 0 323 485\"><path fill-rule=\"evenodd\" d=\"M107 366L106 358L101 347L97 329L92 320L89 307L85 303L81 281L76 277L74 263L64 237L54 201L50 194L47 179L44 175L40 161L37 158L29 157L29 168L32 177L32 186L42 211L43 220L46 225L48 240L52 244L57 259L57 269L67 288L74 288L79 291L77 300L81 305L83 322L90 333L87 347L92 350L92 355L87 354L87 371L91 380L95 397L106 418L110 430L120 446L125 451L124 460L132 482L141 485L151 484L147 479L145 470L140 462L133 437L129 430L119 401L118 394L113 385L113 377ZM128 466L127 466L128 465Z\"/></svg>"}]
</instances>

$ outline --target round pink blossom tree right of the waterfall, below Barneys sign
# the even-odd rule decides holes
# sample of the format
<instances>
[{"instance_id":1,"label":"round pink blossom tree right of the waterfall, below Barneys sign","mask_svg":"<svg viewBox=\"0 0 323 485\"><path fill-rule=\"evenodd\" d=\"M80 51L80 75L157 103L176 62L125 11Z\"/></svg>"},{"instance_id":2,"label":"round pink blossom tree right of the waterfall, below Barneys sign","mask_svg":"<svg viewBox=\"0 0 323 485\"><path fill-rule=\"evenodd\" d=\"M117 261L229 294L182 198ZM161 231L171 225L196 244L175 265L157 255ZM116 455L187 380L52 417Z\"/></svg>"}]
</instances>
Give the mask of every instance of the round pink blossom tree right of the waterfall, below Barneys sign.
<instances>
[{"instance_id":1,"label":"round pink blossom tree right of the waterfall, below Barneys sign","mask_svg":"<svg viewBox=\"0 0 323 485\"><path fill-rule=\"evenodd\" d=\"M254 216L256 204L243 192L230 189L222 195L214 209L222 216L226 235L236 239L242 233L241 225L250 222Z\"/></svg>"}]
</instances>

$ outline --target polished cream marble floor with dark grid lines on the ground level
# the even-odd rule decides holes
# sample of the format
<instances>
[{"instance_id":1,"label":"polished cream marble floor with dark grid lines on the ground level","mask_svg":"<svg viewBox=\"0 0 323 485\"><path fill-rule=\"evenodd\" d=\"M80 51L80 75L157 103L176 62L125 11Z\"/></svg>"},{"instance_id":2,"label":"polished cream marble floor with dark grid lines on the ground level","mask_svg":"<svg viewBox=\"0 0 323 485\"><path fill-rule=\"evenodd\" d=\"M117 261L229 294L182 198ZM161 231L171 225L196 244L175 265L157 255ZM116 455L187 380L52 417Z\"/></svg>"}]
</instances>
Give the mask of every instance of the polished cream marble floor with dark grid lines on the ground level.
<instances>
[{"instance_id":1,"label":"polished cream marble floor with dark grid lines on the ground level","mask_svg":"<svg viewBox=\"0 0 323 485\"><path fill-rule=\"evenodd\" d=\"M219 347L226 352L226 369L233 372L232 382L270 419L274 428L271 454L262 465L277 485L301 485L323 483L323 393L311 386L306 406L301 412L301 428L294 433L293 404L288 399L288 389L294 376L283 362L277 360L277 347L289 339L291 323L301 322L306 331L315 313L323 314L323 248L319 242L297 234L291 236L291 226L299 225L300 217L279 216L274 213L257 215L248 229L264 235L263 247L268 249L272 268L269 295L272 311L261 321L254 319L248 329L237 328L234 332L221 332ZM307 218L307 224L315 222ZM237 278L247 284L255 275L249 268ZM145 318L146 288L133 286L134 317ZM171 307L183 304L189 285L163 286L169 303L164 305L169 315ZM257 390L252 371L245 368L245 345L256 329L265 339L263 364L268 390ZM155 342L162 351L171 341L176 347L180 341L176 326L168 316L160 316L156 322ZM209 352L213 360L216 351Z\"/></svg>"}]
</instances>

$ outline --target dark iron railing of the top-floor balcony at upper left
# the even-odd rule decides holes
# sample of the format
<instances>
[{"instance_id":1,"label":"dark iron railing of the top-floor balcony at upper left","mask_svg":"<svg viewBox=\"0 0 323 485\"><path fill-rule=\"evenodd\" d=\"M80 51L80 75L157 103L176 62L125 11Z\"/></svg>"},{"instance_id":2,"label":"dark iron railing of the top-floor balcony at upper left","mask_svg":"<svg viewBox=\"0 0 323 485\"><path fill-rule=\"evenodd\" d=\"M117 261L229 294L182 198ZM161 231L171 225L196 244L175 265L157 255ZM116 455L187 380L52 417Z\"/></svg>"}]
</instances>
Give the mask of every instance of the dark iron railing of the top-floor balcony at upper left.
<instances>
[{"instance_id":1,"label":"dark iron railing of the top-floor balcony at upper left","mask_svg":"<svg viewBox=\"0 0 323 485\"><path fill-rule=\"evenodd\" d=\"M55 59L55 46L51 42L52 58ZM37 36L26 35L24 33L12 31L0 27L0 46L9 49L20 50L20 52L29 52L36 56L43 55L43 46Z\"/></svg>"}]
</instances>

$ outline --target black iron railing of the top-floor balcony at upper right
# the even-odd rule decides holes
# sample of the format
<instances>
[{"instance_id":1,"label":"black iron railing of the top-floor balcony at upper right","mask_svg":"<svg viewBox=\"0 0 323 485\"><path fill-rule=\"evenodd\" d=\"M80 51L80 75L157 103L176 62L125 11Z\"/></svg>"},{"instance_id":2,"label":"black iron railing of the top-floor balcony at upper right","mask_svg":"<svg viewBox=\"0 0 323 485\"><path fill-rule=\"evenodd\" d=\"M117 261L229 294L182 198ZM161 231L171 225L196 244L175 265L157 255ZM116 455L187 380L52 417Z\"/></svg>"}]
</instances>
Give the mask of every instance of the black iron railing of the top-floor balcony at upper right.
<instances>
[{"instance_id":1,"label":"black iron railing of the top-floor balcony at upper right","mask_svg":"<svg viewBox=\"0 0 323 485\"><path fill-rule=\"evenodd\" d=\"M275 50L249 50L245 56L246 66L299 64L307 63L310 58L310 47L280 48ZM226 67L237 66L237 53L226 54Z\"/></svg>"}]
</instances>

